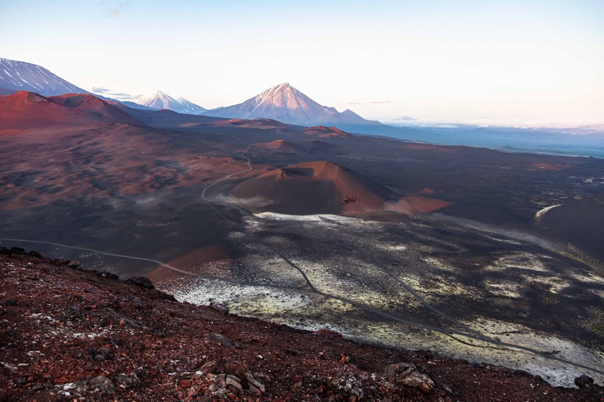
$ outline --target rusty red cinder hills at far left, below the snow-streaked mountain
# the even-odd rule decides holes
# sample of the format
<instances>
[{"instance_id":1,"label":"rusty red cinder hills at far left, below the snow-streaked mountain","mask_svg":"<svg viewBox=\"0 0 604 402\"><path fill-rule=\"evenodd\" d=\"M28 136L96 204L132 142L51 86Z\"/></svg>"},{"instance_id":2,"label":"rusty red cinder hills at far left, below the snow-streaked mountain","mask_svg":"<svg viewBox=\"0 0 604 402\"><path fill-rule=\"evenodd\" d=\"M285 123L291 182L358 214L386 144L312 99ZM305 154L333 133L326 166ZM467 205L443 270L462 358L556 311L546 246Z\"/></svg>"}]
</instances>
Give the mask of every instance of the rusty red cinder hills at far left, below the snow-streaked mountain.
<instances>
[{"instance_id":1,"label":"rusty red cinder hills at far left, below the snow-streaked mountain","mask_svg":"<svg viewBox=\"0 0 604 402\"><path fill-rule=\"evenodd\" d=\"M19 91L0 98L0 131L117 123L146 125L125 111L83 93L46 97Z\"/></svg>"}]
</instances>

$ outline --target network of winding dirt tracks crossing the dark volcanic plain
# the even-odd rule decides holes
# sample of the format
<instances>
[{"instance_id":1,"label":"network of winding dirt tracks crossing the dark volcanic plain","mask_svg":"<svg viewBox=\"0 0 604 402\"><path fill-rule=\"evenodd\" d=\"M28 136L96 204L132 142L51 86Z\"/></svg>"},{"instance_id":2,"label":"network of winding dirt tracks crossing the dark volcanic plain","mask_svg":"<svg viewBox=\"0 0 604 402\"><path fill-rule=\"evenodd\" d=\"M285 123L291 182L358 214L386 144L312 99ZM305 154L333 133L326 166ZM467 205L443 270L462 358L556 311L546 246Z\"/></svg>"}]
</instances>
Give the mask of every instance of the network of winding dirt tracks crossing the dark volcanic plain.
<instances>
[{"instance_id":1,"label":"network of winding dirt tracks crossing the dark volcanic plain","mask_svg":"<svg viewBox=\"0 0 604 402\"><path fill-rule=\"evenodd\" d=\"M223 215L213 205L213 203L211 203L206 198L206 196L205 196L207 190L210 189L210 187L214 186L215 184L219 183L220 181L228 180L228 178L231 178L233 176L236 176L236 175L239 175L239 174L242 174L242 173L245 173L245 172L249 172L249 171L252 170L251 160L248 157L245 156L246 152L248 152L249 148L251 148L251 146L252 146L251 143L246 142L246 141L240 139L239 137L235 137L235 138L237 140L240 140L241 142L246 143L248 145L248 147L245 149L245 151L243 151L241 153L241 156L248 161L247 162L248 169L245 169L243 171L227 175L227 176L225 176L223 178L220 178L219 180L214 181L213 183L208 184L208 186L206 186L204 188L204 190L202 190L201 197L202 197L203 201L209 207L211 207L211 209L213 209L214 212L216 212L222 219L224 219L228 224L232 225L233 227L236 227L241 233L243 233L246 236L246 238L250 238L251 235L249 233L247 233L243 227L241 227L240 225L238 225L236 222L233 222L230 219L226 218L226 216ZM222 204L222 203L216 203L216 204L223 205L223 206L228 206L228 204ZM246 215L254 216L249 211L243 210L243 209L241 209L239 207L235 207L235 208L237 210L239 210L240 212L246 213ZM262 219L262 218L259 218L257 216L254 216L254 218L256 218L256 219ZM275 221L271 220L271 222L274 223ZM381 311L381 310L377 310L377 309L374 309L373 307L367 306L367 305L362 304L362 303L358 303L356 301L353 301L353 300L350 300L350 299L347 299L347 298L344 298L344 297L339 297L339 296L336 296L336 295L332 295L332 294L327 294L327 293L321 292L318 289L316 289L315 286L313 286L312 282L309 280L309 278L307 277L307 275L303 271L303 269L301 269L299 266L297 266L295 263L293 263L287 257L283 256L283 254L281 254L278 250L275 250L274 247L272 247L268 243L263 242L262 240L259 240L259 239L254 239L254 241L257 242L257 243L260 243L264 247L266 247L269 250L271 250L278 257L280 257L286 263L288 263L288 265L292 266L292 268L294 268L298 272L300 272L300 275L304 278L304 281L306 281L308 289L304 289L304 288L300 288L300 287L280 286L280 285L275 285L275 284L252 283L252 282L247 282L247 281L237 281L237 280L230 280L230 279L226 279L226 278L214 277L214 276L211 276L211 275L196 274L194 272L188 272L188 271L184 271L182 269L178 269L178 268L176 268L174 266L168 265L166 263L163 263L161 261L154 260L154 259L147 259L147 258L144 258L144 257L127 256L127 255L124 255L124 254L108 253L106 251L93 250L91 248L85 248L85 247L76 247L76 246L66 245L66 244L62 244L62 243L43 242L43 241L38 241L38 240L27 240L27 239L10 239L10 238L2 238L2 237L0 237L0 240L11 241L11 242L24 242L24 243L38 243L38 244L54 245L54 246L57 246L57 247L65 247L65 248L70 248L70 249L73 249L73 250L89 251L91 253L102 254L104 256L120 257L120 258L125 258L125 259L132 259L132 260L141 260L141 261L146 261L146 262L152 262L152 263L155 263L156 265L163 266L164 268L170 269L170 270L175 271L175 272L179 272L181 274L191 275L191 276L203 278L203 279L206 279L206 280L223 281L223 282L226 282L226 283L237 284L239 286L271 287L271 288L274 288L274 289L281 289L281 290L284 290L284 291L304 292L304 293L310 293L310 294L320 295L322 297L331 298L333 300L339 300L339 301L341 301L343 303L351 304L352 306L359 307L359 308L364 309L364 310L366 310L368 312L375 313L375 314L377 314L379 316L382 316L384 318L390 319L392 321L400 322L402 324L410 325L410 326L413 326L413 327L416 327L416 328L423 328L423 329L426 329L426 330L432 330L432 331L437 331L437 332L440 332L440 333L448 334L449 336L451 336L456 341L464 343L466 345L471 345L471 346L474 346L474 347L480 347L480 345L468 344L467 342L464 342L464 341L462 341L460 339L455 338L453 335L463 336L464 338L467 338L467 339L475 339L477 341L483 341L483 342L487 342L489 344L497 346L497 347L490 346L491 348L497 348L497 349L502 349L503 348L504 350L507 350L507 351L510 351L510 352L514 352L514 353L536 354L538 356L544 357L545 359L555 360L557 362L565 363L565 364L568 364L568 365L575 366L577 368L586 369L588 371L593 371L593 372L597 372L599 374L603 374L604 375L604 371L602 371L600 369L593 368L593 367L590 367L590 366L586 366L586 365L583 365L582 363L571 362L570 360L561 359L560 357L551 356L550 354L544 353L544 352L539 351L539 350L534 350L532 348L524 347L522 345L515 345L515 344L510 344L508 342L501 342L501 341L498 341L496 339L492 339L492 338L489 338L487 336L484 336L483 334L479 333L478 331L472 330L471 328L467 327L467 325L461 324L460 322L456 321L455 319L453 319L453 318L449 317L448 315L446 315L445 313L441 312L439 309L436 309L434 306L431 306L431 304L429 304L425 299L423 299L419 294L417 294L417 292L413 289L413 287L411 287L410 285L406 284L404 281L400 280L400 278L396 277L396 275L394 275L393 272L391 272L390 269L388 269L387 267L385 267L381 262L375 260L371 256L368 256L368 254L363 253L361 250L359 250L359 248L352 247L351 245L348 245L348 244L342 243L342 242L337 242L337 243L339 245L344 246L345 248L349 248L350 250L356 251L356 253L359 253L361 256L369 259L372 263L374 263L376 266L378 266L380 269L382 269L382 271L384 271L388 275L388 277L393 278L399 284L401 284L403 287L405 287L405 289L407 291L409 291L415 298L417 298L417 300L420 301L420 303L422 303L426 308L428 308L432 312L436 313L437 315L441 316L442 318L445 318L447 321L451 322L452 324L456 325L457 327L463 328L467 332L466 331L460 331L460 330L453 330L453 329L449 329L449 328L434 327L432 325L425 325L425 324L422 324L420 322L410 321L408 319L403 318L402 316L395 315L395 314L388 313L388 312L384 312L384 311ZM510 348L512 348L512 349L510 349Z\"/></svg>"}]
</instances>

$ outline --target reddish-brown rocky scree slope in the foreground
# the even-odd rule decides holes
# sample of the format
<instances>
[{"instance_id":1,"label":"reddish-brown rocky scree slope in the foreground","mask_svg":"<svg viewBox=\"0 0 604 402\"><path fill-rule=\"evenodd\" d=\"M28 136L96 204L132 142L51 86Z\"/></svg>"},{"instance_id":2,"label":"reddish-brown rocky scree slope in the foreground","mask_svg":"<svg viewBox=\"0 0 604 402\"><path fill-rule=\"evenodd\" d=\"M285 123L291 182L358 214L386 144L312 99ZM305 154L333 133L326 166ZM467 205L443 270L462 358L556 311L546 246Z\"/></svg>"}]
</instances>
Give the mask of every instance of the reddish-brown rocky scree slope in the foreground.
<instances>
[{"instance_id":1,"label":"reddish-brown rocky scree slope in the foreground","mask_svg":"<svg viewBox=\"0 0 604 402\"><path fill-rule=\"evenodd\" d=\"M0 248L0 401L604 401L539 377L193 306Z\"/></svg>"}]
</instances>

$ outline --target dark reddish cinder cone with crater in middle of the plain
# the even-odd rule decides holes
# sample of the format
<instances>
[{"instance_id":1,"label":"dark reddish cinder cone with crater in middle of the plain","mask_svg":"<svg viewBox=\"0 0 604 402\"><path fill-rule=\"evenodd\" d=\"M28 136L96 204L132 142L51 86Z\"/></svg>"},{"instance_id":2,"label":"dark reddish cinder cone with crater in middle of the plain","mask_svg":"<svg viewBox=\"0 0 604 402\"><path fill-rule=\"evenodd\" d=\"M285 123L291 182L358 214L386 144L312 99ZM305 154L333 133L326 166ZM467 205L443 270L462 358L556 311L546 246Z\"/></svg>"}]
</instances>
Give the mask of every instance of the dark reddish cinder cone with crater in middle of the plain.
<instances>
[{"instance_id":1,"label":"dark reddish cinder cone with crater in middle of the plain","mask_svg":"<svg viewBox=\"0 0 604 402\"><path fill-rule=\"evenodd\" d=\"M275 169L238 184L231 195L263 203L255 209L297 215L380 210L394 198L370 178L325 161Z\"/></svg>"}]
</instances>

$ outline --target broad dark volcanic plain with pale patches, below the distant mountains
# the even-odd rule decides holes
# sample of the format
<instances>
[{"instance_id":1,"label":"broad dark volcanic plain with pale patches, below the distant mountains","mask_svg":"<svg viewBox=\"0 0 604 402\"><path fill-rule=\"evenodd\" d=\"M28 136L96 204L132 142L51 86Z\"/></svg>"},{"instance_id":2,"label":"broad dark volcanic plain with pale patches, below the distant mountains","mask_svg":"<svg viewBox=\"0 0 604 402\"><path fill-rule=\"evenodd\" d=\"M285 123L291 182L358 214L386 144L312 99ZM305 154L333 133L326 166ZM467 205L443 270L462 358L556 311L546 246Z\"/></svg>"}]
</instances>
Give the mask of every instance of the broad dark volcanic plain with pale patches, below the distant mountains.
<instances>
[{"instance_id":1,"label":"broad dark volcanic plain with pale patches, below the distant mountains","mask_svg":"<svg viewBox=\"0 0 604 402\"><path fill-rule=\"evenodd\" d=\"M596 194L602 160L127 112L143 124L0 137L2 245L146 275L179 300L240 315L555 385L604 379L597 250L548 231L556 208L535 219ZM266 180L287 201L280 213L254 185ZM318 204L295 196L298 182ZM315 199L317 188L328 196Z\"/></svg>"}]
</instances>

